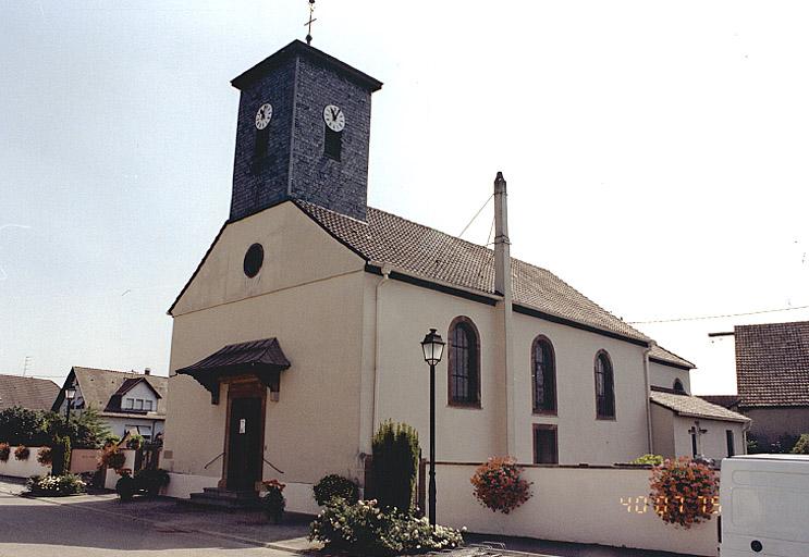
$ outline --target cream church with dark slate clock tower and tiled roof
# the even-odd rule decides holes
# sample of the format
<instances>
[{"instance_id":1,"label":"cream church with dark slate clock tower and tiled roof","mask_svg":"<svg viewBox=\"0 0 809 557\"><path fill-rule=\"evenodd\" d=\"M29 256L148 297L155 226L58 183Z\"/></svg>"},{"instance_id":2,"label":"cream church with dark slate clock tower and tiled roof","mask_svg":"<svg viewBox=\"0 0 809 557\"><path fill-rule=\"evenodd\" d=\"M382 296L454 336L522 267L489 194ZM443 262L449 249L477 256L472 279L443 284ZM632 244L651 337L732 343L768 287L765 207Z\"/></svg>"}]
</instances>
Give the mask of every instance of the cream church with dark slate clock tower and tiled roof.
<instances>
[{"instance_id":1,"label":"cream church with dark slate clock tower and tiled roof","mask_svg":"<svg viewBox=\"0 0 809 557\"><path fill-rule=\"evenodd\" d=\"M312 511L323 475L363 482L384 420L409 423L427 447L419 343L430 329L446 342L439 461L611 465L659 451L655 442L690 455L671 440L695 419L694 438L716 420L744 451L744 420L704 401L689 413L691 363L511 258L500 173L494 249L367 206L379 81L293 41L232 85L230 219L169 310L162 466L173 493L275 478L289 510Z\"/></svg>"}]
</instances>

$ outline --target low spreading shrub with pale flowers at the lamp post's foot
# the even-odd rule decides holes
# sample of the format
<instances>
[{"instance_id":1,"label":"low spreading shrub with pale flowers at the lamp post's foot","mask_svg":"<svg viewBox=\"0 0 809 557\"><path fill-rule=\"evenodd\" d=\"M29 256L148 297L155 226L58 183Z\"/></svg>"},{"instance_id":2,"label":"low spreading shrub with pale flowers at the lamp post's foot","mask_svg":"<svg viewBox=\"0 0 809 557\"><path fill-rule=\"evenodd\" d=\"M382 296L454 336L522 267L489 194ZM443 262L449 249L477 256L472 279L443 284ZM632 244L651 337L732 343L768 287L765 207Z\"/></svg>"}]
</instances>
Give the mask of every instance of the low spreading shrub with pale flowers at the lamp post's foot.
<instances>
[{"instance_id":1,"label":"low spreading shrub with pale flowers at the lamp post's foot","mask_svg":"<svg viewBox=\"0 0 809 557\"><path fill-rule=\"evenodd\" d=\"M430 525L393 508L383 511L376 500L354 505L334 498L309 527L309 540L350 555L393 556L440 552L463 543L457 530Z\"/></svg>"}]
</instances>

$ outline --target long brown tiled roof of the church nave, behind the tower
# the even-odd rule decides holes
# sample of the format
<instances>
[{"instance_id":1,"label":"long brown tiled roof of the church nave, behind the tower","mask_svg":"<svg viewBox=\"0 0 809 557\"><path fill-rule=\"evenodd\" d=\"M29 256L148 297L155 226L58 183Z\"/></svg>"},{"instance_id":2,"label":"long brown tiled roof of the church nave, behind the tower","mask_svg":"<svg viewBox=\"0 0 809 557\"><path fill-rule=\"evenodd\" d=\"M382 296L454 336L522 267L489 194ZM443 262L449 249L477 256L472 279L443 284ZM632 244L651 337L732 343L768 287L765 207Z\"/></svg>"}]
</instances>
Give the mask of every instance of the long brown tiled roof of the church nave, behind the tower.
<instances>
[{"instance_id":1,"label":"long brown tiled roof of the church nave, behind the tower","mask_svg":"<svg viewBox=\"0 0 809 557\"><path fill-rule=\"evenodd\" d=\"M295 203L366 261L389 263L427 281L494 294L494 251L487 247L370 207L363 222L306 201ZM546 269L512 259L512 284L516 305L622 337L650 341Z\"/></svg>"}]
</instances>

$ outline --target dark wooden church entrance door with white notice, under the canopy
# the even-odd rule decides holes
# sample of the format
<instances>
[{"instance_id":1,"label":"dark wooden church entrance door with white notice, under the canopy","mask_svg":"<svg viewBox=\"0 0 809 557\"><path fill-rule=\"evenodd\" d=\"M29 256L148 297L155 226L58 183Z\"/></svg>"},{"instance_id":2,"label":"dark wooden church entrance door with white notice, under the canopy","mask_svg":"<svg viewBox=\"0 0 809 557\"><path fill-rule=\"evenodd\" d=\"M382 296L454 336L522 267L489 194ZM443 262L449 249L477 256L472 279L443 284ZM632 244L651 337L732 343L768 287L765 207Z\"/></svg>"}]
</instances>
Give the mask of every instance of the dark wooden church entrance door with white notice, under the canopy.
<instances>
[{"instance_id":1,"label":"dark wooden church entrance door with white notice, under the canopy","mask_svg":"<svg viewBox=\"0 0 809 557\"><path fill-rule=\"evenodd\" d=\"M257 381L233 383L228 394L225 487L253 491L261 481L267 387Z\"/></svg>"}]
</instances>

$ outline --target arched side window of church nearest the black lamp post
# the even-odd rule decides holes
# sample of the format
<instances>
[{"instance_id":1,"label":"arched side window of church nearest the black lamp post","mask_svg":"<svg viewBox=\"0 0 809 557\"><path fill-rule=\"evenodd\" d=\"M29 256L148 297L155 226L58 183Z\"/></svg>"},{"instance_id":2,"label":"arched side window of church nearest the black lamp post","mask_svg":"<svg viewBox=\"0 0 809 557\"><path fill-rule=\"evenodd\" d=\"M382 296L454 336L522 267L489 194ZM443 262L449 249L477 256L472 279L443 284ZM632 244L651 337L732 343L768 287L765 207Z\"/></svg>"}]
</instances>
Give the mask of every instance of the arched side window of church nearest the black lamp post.
<instances>
[{"instance_id":1,"label":"arched side window of church nearest the black lamp post","mask_svg":"<svg viewBox=\"0 0 809 557\"><path fill-rule=\"evenodd\" d=\"M458 317L450 325L449 403L480 406L480 341L469 318Z\"/></svg>"}]
</instances>

